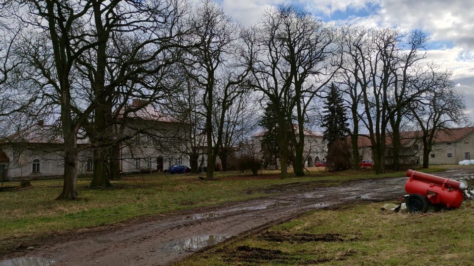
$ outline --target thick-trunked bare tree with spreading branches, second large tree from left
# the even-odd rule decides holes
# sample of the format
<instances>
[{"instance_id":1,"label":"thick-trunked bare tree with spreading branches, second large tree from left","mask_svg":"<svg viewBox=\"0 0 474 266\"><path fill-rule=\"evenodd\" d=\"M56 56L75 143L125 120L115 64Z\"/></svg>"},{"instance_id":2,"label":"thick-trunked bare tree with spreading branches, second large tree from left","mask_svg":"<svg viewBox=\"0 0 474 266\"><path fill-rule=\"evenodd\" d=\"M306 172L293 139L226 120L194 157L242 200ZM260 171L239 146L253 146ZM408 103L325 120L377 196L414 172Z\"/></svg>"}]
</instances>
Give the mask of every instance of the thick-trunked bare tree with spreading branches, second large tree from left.
<instances>
[{"instance_id":1,"label":"thick-trunked bare tree with spreading branches, second large tree from left","mask_svg":"<svg viewBox=\"0 0 474 266\"><path fill-rule=\"evenodd\" d=\"M121 125L126 114L176 92L172 65L183 48L180 39L188 34L182 22L187 10L182 0L93 1L91 31L96 34L89 39L97 45L77 63L91 88L90 101L97 102L93 123L85 127L94 144L91 187L108 187L108 179L117 177L113 153L130 136L120 137L113 129L127 127ZM133 98L140 104L131 106Z\"/></svg>"}]
</instances>

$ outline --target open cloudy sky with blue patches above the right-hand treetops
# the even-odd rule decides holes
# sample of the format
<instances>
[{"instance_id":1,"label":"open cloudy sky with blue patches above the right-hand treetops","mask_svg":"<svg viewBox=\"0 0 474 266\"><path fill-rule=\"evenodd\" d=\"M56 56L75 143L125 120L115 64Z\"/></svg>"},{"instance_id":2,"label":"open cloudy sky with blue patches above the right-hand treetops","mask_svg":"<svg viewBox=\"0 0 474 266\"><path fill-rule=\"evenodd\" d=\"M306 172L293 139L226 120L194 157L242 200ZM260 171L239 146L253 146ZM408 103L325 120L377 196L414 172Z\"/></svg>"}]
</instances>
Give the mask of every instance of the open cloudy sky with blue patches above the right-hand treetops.
<instances>
[{"instance_id":1,"label":"open cloudy sky with blue patches above the right-hand treetops","mask_svg":"<svg viewBox=\"0 0 474 266\"><path fill-rule=\"evenodd\" d=\"M216 0L244 25L281 0ZM363 23L421 29L430 35L428 59L454 72L474 118L474 0L287 0L327 22Z\"/></svg>"}]
</instances>

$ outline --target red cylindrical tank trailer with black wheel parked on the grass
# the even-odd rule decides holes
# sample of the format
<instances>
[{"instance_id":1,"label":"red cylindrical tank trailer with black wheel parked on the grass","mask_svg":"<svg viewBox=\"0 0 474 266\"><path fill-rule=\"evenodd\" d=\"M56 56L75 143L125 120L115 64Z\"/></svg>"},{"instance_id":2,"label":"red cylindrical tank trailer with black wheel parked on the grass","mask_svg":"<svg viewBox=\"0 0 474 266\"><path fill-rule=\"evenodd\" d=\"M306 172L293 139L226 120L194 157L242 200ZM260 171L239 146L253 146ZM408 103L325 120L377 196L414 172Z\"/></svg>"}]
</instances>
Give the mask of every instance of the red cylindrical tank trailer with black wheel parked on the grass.
<instances>
[{"instance_id":1,"label":"red cylindrical tank trailer with black wheel parked on the grass","mask_svg":"<svg viewBox=\"0 0 474 266\"><path fill-rule=\"evenodd\" d=\"M463 190L466 184L449 178L421 173L408 169L405 190L410 194L406 198L406 207L410 212L427 212L429 202L457 208L463 203Z\"/></svg>"}]
</instances>

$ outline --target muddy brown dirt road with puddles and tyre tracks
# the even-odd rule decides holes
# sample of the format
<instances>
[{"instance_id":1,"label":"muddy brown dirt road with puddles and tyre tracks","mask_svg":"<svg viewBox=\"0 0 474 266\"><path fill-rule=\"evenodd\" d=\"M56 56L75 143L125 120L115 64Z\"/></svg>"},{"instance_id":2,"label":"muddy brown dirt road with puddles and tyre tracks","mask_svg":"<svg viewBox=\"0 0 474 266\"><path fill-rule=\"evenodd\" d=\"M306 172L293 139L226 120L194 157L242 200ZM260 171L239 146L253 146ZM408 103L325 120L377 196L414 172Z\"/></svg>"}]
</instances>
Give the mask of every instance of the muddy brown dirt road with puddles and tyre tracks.
<instances>
[{"instance_id":1,"label":"muddy brown dirt road with puddles and tyre tracks","mask_svg":"<svg viewBox=\"0 0 474 266\"><path fill-rule=\"evenodd\" d=\"M456 168L437 175L453 179L474 178L474 168ZM0 266L169 265L205 246L283 222L308 210L356 200L398 198L404 194L405 180L405 177L397 177L356 181L344 186L286 192L276 197L195 209L44 245L21 257L1 261Z\"/></svg>"}]
</instances>

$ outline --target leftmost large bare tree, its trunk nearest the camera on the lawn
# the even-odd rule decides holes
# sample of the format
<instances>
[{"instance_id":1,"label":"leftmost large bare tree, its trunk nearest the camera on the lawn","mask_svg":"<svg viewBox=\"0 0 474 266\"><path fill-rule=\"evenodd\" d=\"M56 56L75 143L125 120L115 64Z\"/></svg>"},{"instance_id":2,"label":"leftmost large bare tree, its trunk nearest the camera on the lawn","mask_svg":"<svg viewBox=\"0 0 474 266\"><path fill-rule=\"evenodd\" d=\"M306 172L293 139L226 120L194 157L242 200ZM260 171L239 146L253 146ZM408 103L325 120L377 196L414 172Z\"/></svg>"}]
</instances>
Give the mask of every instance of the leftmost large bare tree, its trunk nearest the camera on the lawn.
<instances>
[{"instance_id":1,"label":"leftmost large bare tree, its trunk nearest the camera on the lawn","mask_svg":"<svg viewBox=\"0 0 474 266\"><path fill-rule=\"evenodd\" d=\"M35 83L41 97L48 99L46 104L58 107L64 139L64 183L57 199L76 199L77 136L96 103L82 105L75 99L73 66L84 51L97 44L83 39L91 34L84 32L82 25L92 1L11 1L7 8L13 12L12 18L27 25L19 50L28 66L24 79Z\"/></svg>"}]
</instances>

